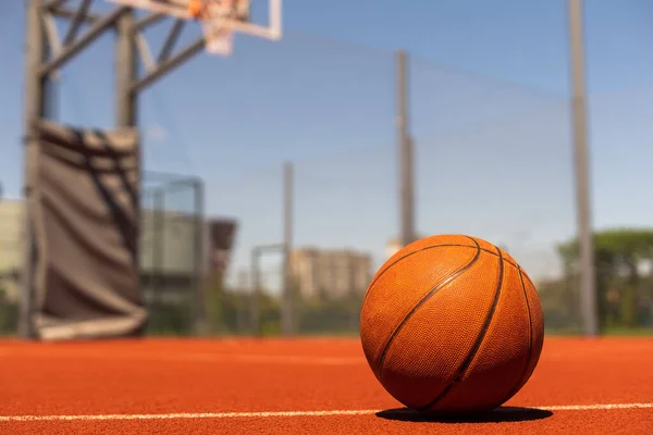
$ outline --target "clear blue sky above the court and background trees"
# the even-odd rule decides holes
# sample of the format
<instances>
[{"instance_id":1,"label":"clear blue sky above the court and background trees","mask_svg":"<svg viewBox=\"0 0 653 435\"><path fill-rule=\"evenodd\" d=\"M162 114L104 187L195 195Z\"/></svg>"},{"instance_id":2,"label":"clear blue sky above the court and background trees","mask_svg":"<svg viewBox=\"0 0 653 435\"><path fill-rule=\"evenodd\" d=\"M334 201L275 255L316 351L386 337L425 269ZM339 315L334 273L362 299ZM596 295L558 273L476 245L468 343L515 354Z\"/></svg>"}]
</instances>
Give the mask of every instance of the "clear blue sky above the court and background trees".
<instances>
[{"instance_id":1,"label":"clear blue sky above the court and background trees","mask_svg":"<svg viewBox=\"0 0 653 435\"><path fill-rule=\"evenodd\" d=\"M23 2L3 3L0 181L17 196L25 20ZM653 2L584 3L594 223L649 225ZM420 232L475 234L552 273L554 243L575 228L566 1L397 4L285 0L281 42L238 37L229 59L194 58L141 95L146 169L206 181L209 213L241 220L239 269L252 245L282 237L292 160L295 243L382 261L398 227L393 52L404 48ZM60 121L112 125L113 61L107 35L63 71Z\"/></svg>"}]
</instances>

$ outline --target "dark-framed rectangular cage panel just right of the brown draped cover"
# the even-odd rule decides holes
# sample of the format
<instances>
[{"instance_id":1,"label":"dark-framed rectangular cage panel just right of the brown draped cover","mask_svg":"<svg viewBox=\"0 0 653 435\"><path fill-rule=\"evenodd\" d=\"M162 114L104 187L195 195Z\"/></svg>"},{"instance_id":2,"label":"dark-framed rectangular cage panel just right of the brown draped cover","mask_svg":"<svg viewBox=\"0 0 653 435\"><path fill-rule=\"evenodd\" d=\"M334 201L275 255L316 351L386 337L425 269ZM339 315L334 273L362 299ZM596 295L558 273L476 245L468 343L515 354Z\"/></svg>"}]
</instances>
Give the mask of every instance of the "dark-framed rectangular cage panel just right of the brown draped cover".
<instances>
[{"instance_id":1,"label":"dark-framed rectangular cage panel just right of the brown draped cover","mask_svg":"<svg viewBox=\"0 0 653 435\"><path fill-rule=\"evenodd\" d=\"M145 174L140 273L150 334L192 334L204 318L202 201L195 177Z\"/></svg>"}]
</instances>

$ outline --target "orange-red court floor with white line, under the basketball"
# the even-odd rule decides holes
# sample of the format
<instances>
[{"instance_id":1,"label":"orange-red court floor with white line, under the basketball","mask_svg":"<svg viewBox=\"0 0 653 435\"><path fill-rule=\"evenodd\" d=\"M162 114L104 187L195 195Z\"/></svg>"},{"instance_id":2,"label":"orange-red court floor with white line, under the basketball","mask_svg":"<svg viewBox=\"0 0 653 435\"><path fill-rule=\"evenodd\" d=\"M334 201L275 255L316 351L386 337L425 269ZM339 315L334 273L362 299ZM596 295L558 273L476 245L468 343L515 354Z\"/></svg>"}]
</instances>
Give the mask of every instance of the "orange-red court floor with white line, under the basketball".
<instances>
[{"instance_id":1,"label":"orange-red court floor with white line, under the basketball","mask_svg":"<svg viewBox=\"0 0 653 435\"><path fill-rule=\"evenodd\" d=\"M653 434L653 339L547 337L476 420L402 409L355 338L0 341L0 434Z\"/></svg>"}]
</instances>

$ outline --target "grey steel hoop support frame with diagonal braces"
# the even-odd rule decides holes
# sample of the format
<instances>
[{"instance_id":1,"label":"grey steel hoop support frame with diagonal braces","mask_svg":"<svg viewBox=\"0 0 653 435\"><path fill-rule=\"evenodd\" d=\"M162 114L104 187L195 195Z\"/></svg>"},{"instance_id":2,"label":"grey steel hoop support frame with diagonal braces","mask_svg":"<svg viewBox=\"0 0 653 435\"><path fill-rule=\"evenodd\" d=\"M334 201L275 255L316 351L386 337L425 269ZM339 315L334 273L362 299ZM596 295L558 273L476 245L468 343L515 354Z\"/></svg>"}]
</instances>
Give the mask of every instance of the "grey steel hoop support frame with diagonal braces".
<instances>
[{"instance_id":1,"label":"grey steel hoop support frame with diagonal braces","mask_svg":"<svg viewBox=\"0 0 653 435\"><path fill-rule=\"evenodd\" d=\"M138 96L165 74L206 49L205 37L197 38L181 49L175 48L181 27L187 20L177 18L170 29L158 55L152 57L144 32L147 27L165 18L163 13L150 13L138 18L133 8L115 5L111 10L95 11L91 5L100 0L27 0L26 5L26 50L25 50L25 95L23 115L24 182L25 201L35 197L29 184L29 174L35 171L37 156L36 135L32 127L37 121L52 119L50 87L56 83L59 71L78 54L91 47L107 32L116 35L115 53L115 125L116 127L138 127ZM101 0L110 2L111 0ZM281 7L281 1L278 3ZM272 16L273 20L274 14ZM281 11L279 11L281 26ZM62 35L56 21L65 22L69 28ZM274 24L274 23L273 23ZM84 26L83 26L84 25ZM249 23L236 24L243 33L252 34ZM279 28L279 30L281 30ZM256 34L258 35L258 34ZM262 35L266 36L266 35ZM270 39L279 39L281 32L268 34ZM138 67L140 64L141 67ZM84 126L79 126L84 128ZM139 147L139 145L137 145ZM138 153L140 151L138 150ZM38 200L38 199L36 199ZM32 224L34 216L27 208L24 216L24 262L22 270L22 300L20 313L20 336L36 338L33 313L35 312L34 274L32 259L37 256L35 240L41 235Z\"/></svg>"}]
</instances>

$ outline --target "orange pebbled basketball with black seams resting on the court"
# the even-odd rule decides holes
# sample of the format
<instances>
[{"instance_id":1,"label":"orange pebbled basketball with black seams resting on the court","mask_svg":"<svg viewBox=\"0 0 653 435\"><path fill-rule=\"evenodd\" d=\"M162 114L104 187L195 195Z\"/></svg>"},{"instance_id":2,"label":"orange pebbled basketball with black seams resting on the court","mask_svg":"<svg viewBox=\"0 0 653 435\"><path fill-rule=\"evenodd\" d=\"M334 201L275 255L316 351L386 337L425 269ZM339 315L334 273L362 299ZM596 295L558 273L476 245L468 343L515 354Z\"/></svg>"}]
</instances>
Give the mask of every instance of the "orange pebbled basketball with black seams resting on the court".
<instances>
[{"instance_id":1,"label":"orange pebbled basketball with black seams resting on the court","mask_svg":"<svg viewBox=\"0 0 653 435\"><path fill-rule=\"evenodd\" d=\"M533 283L479 238L415 241L381 266L360 316L377 378L426 413L475 413L504 403L531 376L544 340Z\"/></svg>"}]
</instances>

